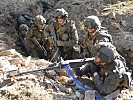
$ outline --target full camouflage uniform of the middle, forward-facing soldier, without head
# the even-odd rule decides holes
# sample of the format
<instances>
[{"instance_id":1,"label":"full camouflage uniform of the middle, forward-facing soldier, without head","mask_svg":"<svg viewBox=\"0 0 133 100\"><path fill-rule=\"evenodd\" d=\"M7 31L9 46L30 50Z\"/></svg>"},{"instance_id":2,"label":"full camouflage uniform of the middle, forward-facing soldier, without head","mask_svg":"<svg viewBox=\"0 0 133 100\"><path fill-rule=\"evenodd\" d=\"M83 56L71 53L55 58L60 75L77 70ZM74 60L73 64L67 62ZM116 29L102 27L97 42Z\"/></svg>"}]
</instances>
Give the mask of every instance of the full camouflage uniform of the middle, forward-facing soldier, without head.
<instances>
[{"instance_id":1,"label":"full camouflage uniform of the middle, forward-facing soldier, without head","mask_svg":"<svg viewBox=\"0 0 133 100\"><path fill-rule=\"evenodd\" d=\"M50 27L54 27L55 30L59 55L64 59L73 58L73 46L75 46L78 42L78 34L75 27L75 22L71 20L65 20L64 25L60 25L58 22L53 22L52 25L49 25L47 28L47 34L53 38L54 34L52 33L52 28Z\"/></svg>"}]
</instances>

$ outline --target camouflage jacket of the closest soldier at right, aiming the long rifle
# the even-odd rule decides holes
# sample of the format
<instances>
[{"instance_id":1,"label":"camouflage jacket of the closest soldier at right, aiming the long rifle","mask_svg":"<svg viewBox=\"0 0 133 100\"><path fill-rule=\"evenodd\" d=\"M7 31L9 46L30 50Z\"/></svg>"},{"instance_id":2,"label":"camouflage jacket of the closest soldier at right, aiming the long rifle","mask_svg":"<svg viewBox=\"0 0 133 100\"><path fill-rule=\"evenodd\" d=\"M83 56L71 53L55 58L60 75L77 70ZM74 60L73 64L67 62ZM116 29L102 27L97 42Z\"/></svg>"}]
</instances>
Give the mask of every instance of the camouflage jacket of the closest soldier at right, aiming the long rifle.
<instances>
[{"instance_id":1,"label":"camouflage jacket of the closest soldier at right, aiming the long rifle","mask_svg":"<svg viewBox=\"0 0 133 100\"><path fill-rule=\"evenodd\" d=\"M102 94L109 94L118 87L128 87L127 67L122 57L116 58L112 63L99 66L99 75L93 77L98 91Z\"/></svg>"}]
</instances>

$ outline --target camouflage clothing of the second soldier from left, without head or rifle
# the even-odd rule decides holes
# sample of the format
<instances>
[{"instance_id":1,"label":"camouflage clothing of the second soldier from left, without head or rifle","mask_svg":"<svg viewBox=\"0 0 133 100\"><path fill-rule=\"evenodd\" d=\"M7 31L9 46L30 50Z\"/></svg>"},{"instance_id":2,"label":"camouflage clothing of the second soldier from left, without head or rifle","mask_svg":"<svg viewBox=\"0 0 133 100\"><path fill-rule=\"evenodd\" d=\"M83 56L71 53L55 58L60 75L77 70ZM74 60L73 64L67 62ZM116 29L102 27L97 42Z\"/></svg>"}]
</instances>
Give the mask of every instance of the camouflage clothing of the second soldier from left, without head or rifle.
<instances>
[{"instance_id":1,"label":"camouflage clothing of the second soldier from left, without head or rifle","mask_svg":"<svg viewBox=\"0 0 133 100\"><path fill-rule=\"evenodd\" d=\"M40 45L38 45L38 43ZM48 41L43 30L38 30L36 26L33 26L26 35L25 45L31 51L31 56L44 58L43 51L40 50L39 46L44 46L48 50ZM47 59L47 57L45 57Z\"/></svg>"}]
</instances>

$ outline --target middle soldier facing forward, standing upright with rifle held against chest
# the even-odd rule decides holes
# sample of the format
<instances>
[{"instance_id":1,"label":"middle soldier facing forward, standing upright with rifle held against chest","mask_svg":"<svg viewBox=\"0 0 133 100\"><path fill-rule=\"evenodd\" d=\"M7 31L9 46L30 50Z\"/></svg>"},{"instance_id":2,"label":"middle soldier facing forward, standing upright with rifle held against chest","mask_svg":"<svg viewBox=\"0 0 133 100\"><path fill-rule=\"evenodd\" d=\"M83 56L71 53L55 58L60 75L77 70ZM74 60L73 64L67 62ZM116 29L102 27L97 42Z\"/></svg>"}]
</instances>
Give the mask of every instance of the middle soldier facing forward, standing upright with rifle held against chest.
<instances>
[{"instance_id":1,"label":"middle soldier facing forward, standing upright with rifle held against chest","mask_svg":"<svg viewBox=\"0 0 133 100\"><path fill-rule=\"evenodd\" d=\"M50 47L58 47L59 51L56 57L58 55L63 59L72 59L75 52L73 47L78 43L75 22L67 19L68 13L63 8L55 10L54 18L55 22L51 23L46 29L46 33L49 34Z\"/></svg>"}]
</instances>

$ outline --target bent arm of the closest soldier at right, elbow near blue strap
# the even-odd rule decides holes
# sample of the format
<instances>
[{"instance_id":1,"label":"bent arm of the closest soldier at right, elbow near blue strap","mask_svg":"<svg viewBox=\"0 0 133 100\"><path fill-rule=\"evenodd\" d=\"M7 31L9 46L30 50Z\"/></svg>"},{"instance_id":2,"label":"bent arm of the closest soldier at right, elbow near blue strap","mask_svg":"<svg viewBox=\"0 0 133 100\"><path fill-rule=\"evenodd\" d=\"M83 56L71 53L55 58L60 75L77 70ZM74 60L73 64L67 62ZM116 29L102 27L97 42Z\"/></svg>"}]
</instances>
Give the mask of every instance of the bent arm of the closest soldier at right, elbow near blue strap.
<instances>
[{"instance_id":1,"label":"bent arm of the closest soldier at right, elbow near blue strap","mask_svg":"<svg viewBox=\"0 0 133 100\"><path fill-rule=\"evenodd\" d=\"M105 77L104 80L101 80L98 73L95 72L93 75L93 81L98 89L98 91L102 94L109 94L117 89L120 83L119 75L116 73L109 74Z\"/></svg>"}]
</instances>

